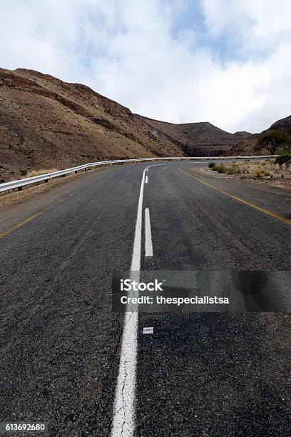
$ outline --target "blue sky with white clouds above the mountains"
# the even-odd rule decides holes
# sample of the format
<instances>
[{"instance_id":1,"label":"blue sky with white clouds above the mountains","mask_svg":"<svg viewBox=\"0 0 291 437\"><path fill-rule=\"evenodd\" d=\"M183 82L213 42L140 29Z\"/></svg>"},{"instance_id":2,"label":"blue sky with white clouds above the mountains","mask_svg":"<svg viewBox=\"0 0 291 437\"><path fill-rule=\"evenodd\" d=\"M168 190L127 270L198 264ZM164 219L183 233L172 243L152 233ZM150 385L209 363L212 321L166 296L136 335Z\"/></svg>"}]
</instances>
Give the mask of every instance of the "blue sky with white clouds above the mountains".
<instances>
[{"instance_id":1,"label":"blue sky with white clouds above the mountains","mask_svg":"<svg viewBox=\"0 0 291 437\"><path fill-rule=\"evenodd\" d=\"M290 0L1 0L0 59L173 123L291 114Z\"/></svg>"}]
</instances>

